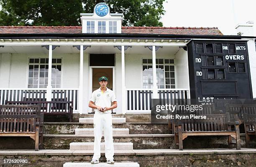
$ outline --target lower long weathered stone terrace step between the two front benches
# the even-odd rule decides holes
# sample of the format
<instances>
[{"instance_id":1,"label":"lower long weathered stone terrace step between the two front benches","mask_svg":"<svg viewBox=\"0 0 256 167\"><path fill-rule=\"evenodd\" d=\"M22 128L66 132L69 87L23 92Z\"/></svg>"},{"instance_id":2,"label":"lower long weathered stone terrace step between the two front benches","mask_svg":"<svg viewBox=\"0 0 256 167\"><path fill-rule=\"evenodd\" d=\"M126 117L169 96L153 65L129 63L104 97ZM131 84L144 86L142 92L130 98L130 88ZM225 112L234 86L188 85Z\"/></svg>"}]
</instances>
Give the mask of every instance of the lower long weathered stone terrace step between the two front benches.
<instances>
[{"instance_id":1,"label":"lower long weathered stone terrace step between the two front benches","mask_svg":"<svg viewBox=\"0 0 256 167\"><path fill-rule=\"evenodd\" d=\"M102 136L101 142L104 142ZM94 142L94 135L44 135L44 149L69 149L72 142ZM170 134L113 135L113 142L132 142L133 149L168 149L174 143Z\"/></svg>"}]
</instances>

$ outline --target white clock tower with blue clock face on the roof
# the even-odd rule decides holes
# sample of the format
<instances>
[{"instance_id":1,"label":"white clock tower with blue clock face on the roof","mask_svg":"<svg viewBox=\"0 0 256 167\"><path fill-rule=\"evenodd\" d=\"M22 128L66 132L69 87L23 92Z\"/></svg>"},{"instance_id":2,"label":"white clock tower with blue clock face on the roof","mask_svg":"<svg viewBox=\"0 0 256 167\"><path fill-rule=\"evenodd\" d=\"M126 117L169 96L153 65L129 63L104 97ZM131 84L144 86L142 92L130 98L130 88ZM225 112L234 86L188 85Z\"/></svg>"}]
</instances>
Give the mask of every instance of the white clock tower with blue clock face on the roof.
<instances>
[{"instance_id":1,"label":"white clock tower with blue clock face on the roof","mask_svg":"<svg viewBox=\"0 0 256 167\"><path fill-rule=\"evenodd\" d=\"M82 33L121 33L122 13L110 13L105 3L95 5L93 13L81 13Z\"/></svg>"}]
</instances>

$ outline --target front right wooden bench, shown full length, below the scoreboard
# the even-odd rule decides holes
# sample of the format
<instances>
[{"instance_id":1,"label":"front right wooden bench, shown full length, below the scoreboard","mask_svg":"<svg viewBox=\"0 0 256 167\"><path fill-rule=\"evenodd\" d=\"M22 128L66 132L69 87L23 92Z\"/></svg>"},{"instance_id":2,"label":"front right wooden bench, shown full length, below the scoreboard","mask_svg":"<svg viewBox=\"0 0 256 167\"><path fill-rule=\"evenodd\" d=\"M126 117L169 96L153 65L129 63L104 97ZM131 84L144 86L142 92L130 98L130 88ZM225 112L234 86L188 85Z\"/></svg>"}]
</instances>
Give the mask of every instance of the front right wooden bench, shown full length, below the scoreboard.
<instances>
[{"instance_id":1,"label":"front right wooden bench, shown full length, below the scoreboard","mask_svg":"<svg viewBox=\"0 0 256 167\"><path fill-rule=\"evenodd\" d=\"M204 116L204 115L202 115ZM231 146L232 137L236 139L236 149L241 150L239 122L231 122L229 113L205 115L206 119L188 119L174 123L174 140L179 150L183 150L183 140L188 136L228 136ZM234 125L235 130L231 130Z\"/></svg>"}]
</instances>

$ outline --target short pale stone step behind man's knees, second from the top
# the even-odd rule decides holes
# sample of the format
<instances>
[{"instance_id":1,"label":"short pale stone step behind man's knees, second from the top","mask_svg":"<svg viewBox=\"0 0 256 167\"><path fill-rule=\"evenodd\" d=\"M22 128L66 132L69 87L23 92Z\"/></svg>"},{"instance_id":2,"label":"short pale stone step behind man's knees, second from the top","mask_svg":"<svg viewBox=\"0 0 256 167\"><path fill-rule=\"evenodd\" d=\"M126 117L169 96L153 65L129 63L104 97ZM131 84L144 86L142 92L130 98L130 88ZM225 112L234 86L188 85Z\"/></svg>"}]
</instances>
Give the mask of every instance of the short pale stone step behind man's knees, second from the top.
<instances>
[{"instance_id":1,"label":"short pale stone step behind man's knees, second from the top","mask_svg":"<svg viewBox=\"0 0 256 167\"><path fill-rule=\"evenodd\" d=\"M104 132L102 131L102 135ZM113 128L113 135L128 135L128 128ZM77 128L75 135L94 135L93 128Z\"/></svg>"}]
</instances>

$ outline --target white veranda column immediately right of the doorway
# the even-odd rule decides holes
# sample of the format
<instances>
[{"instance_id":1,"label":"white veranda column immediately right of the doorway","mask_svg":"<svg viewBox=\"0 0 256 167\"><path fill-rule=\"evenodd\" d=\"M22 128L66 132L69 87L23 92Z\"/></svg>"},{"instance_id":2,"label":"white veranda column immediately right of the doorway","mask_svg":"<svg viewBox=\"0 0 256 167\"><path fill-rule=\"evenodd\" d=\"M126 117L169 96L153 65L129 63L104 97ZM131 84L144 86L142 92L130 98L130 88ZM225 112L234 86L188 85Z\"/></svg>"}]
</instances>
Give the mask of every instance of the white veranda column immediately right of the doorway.
<instances>
[{"instance_id":1,"label":"white veranda column immediately right of the doorway","mask_svg":"<svg viewBox=\"0 0 256 167\"><path fill-rule=\"evenodd\" d=\"M122 53L122 113L125 114L126 112L126 88L125 88L125 55L124 55L124 46L121 46L121 53Z\"/></svg>"}]
</instances>

